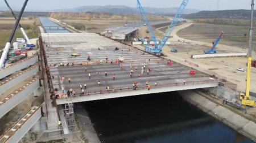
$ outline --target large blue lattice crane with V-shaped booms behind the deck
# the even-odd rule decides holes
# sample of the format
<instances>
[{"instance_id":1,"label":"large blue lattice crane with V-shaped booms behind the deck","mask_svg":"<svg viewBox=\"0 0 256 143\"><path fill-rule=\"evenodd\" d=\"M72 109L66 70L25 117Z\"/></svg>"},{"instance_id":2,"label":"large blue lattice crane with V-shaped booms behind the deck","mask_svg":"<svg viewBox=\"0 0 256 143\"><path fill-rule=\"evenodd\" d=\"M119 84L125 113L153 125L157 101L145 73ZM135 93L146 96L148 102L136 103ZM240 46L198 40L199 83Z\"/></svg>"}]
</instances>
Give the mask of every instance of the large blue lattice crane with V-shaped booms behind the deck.
<instances>
[{"instance_id":1,"label":"large blue lattice crane with V-shaped booms behind the deck","mask_svg":"<svg viewBox=\"0 0 256 143\"><path fill-rule=\"evenodd\" d=\"M155 33L150 25L150 22L147 19L146 13L143 10L143 7L142 7L141 3L139 2L139 0L137 0L137 8L141 12L144 23L147 25L148 32L150 33L151 40L154 42L154 47L146 45L146 47L145 47L146 52L155 53L156 55L162 54L162 49L163 49L164 45L166 45L167 40L171 37L170 34L172 32L172 29L177 25L181 15L183 14L185 7L187 6L188 1L189 0L183 0L179 9L176 12L174 19L172 20L172 23L171 23L169 29L167 30L166 34L164 35L160 45L158 45L156 38L155 38Z\"/></svg>"}]
</instances>

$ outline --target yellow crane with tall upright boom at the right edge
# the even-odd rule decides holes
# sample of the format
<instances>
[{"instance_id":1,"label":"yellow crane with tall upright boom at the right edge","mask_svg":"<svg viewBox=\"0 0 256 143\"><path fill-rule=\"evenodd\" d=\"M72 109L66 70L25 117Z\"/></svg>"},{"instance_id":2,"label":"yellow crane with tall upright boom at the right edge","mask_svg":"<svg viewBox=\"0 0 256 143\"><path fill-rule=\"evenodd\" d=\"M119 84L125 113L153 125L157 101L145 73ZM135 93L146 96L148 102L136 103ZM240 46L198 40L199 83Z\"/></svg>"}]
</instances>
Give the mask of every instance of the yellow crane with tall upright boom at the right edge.
<instances>
[{"instance_id":1,"label":"yellow crane with tall upright boom at the right edge","mask_svg":"<svg viewBox=\"0 0 256 143\"><path fill-rule=\"evenodd\" d=\"M247 63L246 75L246 89L245 93L240 93L240 100L242 101L242 108L247 109L247 106L256 106L255 101L250 96L250 76L251 76L251 49L253 47L253 11L254 0L251 0L251 27L250 27L250 42Z\"/></svg>"}]
</instances>

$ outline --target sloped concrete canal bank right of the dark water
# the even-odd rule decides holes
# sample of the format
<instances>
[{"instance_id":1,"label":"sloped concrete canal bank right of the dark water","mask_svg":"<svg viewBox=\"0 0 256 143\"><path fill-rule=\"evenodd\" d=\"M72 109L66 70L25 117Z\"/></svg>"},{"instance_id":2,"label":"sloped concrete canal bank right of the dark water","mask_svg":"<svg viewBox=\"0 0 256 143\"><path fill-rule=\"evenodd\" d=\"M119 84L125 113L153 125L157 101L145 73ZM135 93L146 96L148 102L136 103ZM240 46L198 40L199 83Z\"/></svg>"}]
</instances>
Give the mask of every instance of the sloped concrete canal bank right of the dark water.
<instances>
[{"instance_id":1,"label":"sloped concrete canal bank right of the dark water","mask_svg":"<svg viewBox=\"0 0 256 143\"><path fill-rule=\"evenodd\" d=\"M254 122L210 101L210 99L201 96L193 90L182 90L178 93L185 99L185 101L195 105L207 114L256 142L256 124Z\"/></svg>"}]
</instances>

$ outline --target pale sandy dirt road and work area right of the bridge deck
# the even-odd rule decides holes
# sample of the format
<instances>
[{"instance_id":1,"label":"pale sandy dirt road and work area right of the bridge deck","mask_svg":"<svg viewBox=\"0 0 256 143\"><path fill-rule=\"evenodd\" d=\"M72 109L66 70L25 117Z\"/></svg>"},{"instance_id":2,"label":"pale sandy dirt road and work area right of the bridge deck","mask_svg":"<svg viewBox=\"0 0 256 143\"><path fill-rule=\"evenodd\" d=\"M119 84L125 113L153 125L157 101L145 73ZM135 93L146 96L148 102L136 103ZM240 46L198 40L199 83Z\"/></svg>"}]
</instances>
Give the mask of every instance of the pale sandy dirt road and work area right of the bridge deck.
<instances>
[{"instance_id":1,"label":"pale sandy dirt road and work area right of the bridge deck","mask_svg":"<svg viewBox=\"0 0 256 143\"><path fill-rule=\"evenodd\" d=\"M208 59L191 59L191 55L203 54L204 50L209 50L212 47L211 43L187 40L177 36L180 29L187 28L193 23L188 22L179 25L172 31L172 38L170 39L172 46L163 48L163 54L168 58L195 68L196 70L216 75L217 77L226 77L226 79L234 84L237 84L238 91L245 91L246 86L246 71L240 72L236 69L242 67L246 69L247 57L229 57L229 58L208 58ZM177 40L184 42L177 42ZM171 53L170 50L176 48L177 53ZM247 49L241 49L235 46L218 45L218 53L247 53ZM253 52L253 59L256 54ZM185 60L198 64L199 67L193 66ZM251 92L256 92L256 68L251 68Z\"/></svg>"}]
</instances>

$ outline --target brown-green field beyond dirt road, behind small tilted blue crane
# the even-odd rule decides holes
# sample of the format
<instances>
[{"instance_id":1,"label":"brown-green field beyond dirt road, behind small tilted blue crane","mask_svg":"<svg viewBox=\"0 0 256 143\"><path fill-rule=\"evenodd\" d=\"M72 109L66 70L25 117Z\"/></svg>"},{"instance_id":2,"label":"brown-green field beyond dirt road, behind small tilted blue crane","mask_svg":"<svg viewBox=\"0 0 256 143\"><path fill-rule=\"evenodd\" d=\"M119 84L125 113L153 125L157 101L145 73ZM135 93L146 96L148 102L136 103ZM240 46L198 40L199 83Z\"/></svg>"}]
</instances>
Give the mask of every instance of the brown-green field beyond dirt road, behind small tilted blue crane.
<instances>
[{"instance_id":1,"label":"brown-green field beyond dirt road, behind small tilted blue crane","mask_svg":"<svg viewBox=\"0 0 256 143\"><path fill-rule=\"evenodd\" d=\"M181 29L177 34L179 37L189 40L213 42L220 35L221 31L224 31L224 37L219 44L238 46L245 49L249 46L249 28L236 25L195 23L191 27ZM245 33L246 36L244 36ZM254 34L253 41L255 40L256 35ZM256 41L254 44L256 44ZM254 50L256 50L256 47L254 47Z\"/></svg>"}]
</instances>

